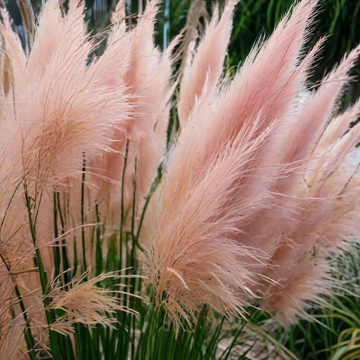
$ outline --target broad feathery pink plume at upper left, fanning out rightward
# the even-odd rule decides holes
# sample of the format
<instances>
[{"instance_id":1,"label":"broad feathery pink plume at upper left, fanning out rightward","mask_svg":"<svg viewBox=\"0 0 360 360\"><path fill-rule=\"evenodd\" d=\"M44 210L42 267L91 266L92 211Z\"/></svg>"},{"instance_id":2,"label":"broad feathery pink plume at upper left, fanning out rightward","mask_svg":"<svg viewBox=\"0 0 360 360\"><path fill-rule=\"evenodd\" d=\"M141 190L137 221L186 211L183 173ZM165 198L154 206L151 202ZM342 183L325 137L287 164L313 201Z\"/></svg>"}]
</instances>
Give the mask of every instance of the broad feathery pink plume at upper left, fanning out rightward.
<instances>
[{"instance_id":1,"label":"broad feathery pink plume at upper left, fanning out rightward","mask_svg":"<svg viewBox=\"0 0 360 360\"><path fill-rule=\"evenodd\" d=\"M45 4L42 16L51 21L40 21L21 88L15 86L14 101L2 105L3 138L12 139L8 151L14 162L21 161L29 191L74 175L81 169L83 152L91 159L109 149L111 131L128 109L125 88L109 91L96 64L86 67L93 44L85 33L83 10L70 2L62 16L58 5ZM65 35L58 36L62 31ZM53 51L32 68L43 32Z\"/></svg>"}]
</instances>

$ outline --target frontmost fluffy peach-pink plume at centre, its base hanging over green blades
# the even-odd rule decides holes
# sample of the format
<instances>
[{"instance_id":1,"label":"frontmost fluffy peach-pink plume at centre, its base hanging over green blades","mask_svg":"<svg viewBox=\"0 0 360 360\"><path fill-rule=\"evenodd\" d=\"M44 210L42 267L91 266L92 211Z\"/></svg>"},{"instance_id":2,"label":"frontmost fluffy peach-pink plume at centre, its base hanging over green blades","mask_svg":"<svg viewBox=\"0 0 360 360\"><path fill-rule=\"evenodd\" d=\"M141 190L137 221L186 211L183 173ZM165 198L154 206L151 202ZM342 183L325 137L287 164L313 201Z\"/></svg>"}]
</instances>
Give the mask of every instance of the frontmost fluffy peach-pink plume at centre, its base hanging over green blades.
<instances>
[{"instance_id":1,"label":"frontmost fluffy peach-pink plume at centre, its base hanging over green blades","mask_svg":"<svg viewBox=\"0 0 360 360\"><path fill-rule=\"evenodd\" d=\"M259 267L261 259L253 259L253 249L237 244L233 237L241 231L236 228L239 219L258 206L246 202L251 189L239 181L251 171L256 150L271 131L251 140L257 125L240 132L232 146L222 149L191 191L180 191L187 181L184 173L178 192L169 199L165 180L149 268L157 298L164 299L175 321L177 314L187 317L183 307L191 312L203 303L222 313L238 314L247 298L254 296L247 286L255 280L247 264L251 259ZM236 196L235 188L244 197Z\"/></svg>"}]
</instances>

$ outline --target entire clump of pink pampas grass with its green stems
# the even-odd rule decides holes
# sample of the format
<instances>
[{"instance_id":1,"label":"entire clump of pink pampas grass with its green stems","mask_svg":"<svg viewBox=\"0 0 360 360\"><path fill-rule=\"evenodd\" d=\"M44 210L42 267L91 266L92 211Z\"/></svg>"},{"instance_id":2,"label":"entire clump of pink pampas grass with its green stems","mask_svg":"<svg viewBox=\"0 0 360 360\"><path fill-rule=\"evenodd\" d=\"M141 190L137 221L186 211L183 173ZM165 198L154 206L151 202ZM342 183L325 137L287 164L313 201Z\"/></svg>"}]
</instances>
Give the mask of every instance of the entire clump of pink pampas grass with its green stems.
<instances>
[{"instance_id":1,"label":"entire clump of pink pampas grass with its green stems","mask_svg":"<svg viewBox=\"0 0 360 360\"><path fill-rule=\"evenodd\" d=\"M101 37L83 3L48 1L28 54L2 12L2 358L213 358L249 307L288 324L341 287L360 127L358 103L337 109L359 48L313 88L326 39L307 48L317 1L302 0L231 79L236 4L163 51L157 0L132 27L120 1Z\"/></svg>"}]
</instances>

